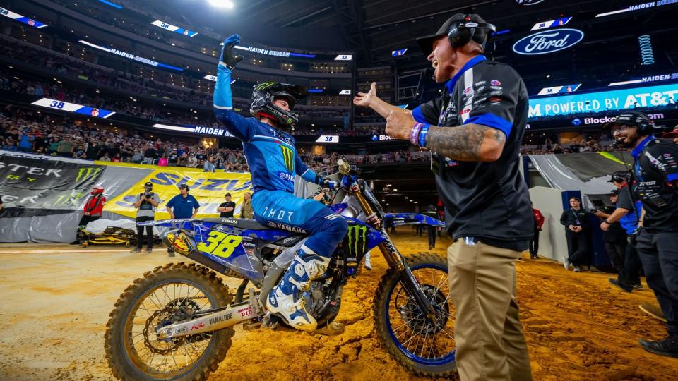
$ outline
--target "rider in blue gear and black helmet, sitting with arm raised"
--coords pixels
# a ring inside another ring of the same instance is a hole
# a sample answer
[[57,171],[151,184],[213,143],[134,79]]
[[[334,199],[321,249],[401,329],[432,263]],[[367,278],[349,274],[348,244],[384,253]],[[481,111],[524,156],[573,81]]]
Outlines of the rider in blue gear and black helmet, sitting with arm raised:
[[343,217],[321,202],[293,194],[295,174],[311,183],[337,188],[334,181],[321,178],[302,162],[297,155],[295,138],[290,135],[297,123],[297,115],[290,109],[307,95],[307,90],[298,85],[261,83],[255,85],[252,92],[249,111],[254,118],[245,118],[233,111],[231,71],[242,61],[242,56],[234,56],[232,49],[239,42],[239,35],[224,41],[217,66],[214,113],[227,131],[242,140],[252,176],[254,218],[275,229],[309,235],[283,279],[268,294],[267,308],[287,325],[313,331],[317,323],[307,312],[302,293],[311,280],[326,271],[348,226]]

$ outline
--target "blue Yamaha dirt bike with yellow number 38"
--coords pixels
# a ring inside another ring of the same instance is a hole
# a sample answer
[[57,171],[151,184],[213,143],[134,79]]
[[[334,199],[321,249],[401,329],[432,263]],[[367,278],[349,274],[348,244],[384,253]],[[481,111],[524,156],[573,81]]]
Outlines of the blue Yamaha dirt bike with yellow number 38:
[[[334,319],[343,286],[355,278],[365,253],[379,248],[388,263],[374,297],[374,325],[383,348],[416,375],[452,375],[456,344],[446,258],[405,258],[381,224],[384,219],[395,226],[444,223],[422,214],[384,213],[367,183],[348,164],[339,164],[341,189],[354,202],[329,207],[349,228],[328,270],[304,291],[307,311],[316,318],[319,332],[342,333]],[[163,237],[168,250],[197,264],[156,267],[121,294],[105,334],[106,358],[115,377],[205,380],[227,355],[234,325],[289,328],[266,310],[266,302],[304,243],[303,229],[229,218],[139,223],[149,224],[170,228]],[[242,279],[234,295],[215,272]],[[248,288],[250,283],[254,287]]]

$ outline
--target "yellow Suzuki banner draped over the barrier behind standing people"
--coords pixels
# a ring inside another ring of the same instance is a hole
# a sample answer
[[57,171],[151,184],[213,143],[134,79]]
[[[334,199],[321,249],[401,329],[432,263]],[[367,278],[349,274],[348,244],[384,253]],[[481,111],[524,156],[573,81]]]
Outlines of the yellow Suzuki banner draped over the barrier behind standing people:
[[[148,168],[148,167],[145,167]],[[231,201],[236,203],[235,217],[239,217],[242,207],[243,194],[251,188],[250,174],[235,174],[228,172],[198,172],[174,170],[154,167],[144,179],[136,183],[126,192],[121,193],[112,200],[107,200],[105,210],[126,217],[135,218],[136,208],[134,203],[140,193],[143,193],[143,184],[146,181],[153,183],[153,192],[160,197],[160,205],[155,210],[155,219],[169,219],[166,205],[175,195],[180,194],[180,184],[189,186],[189,194],[193,195],[200,208],[198,218],[219,217],[217,208],[225,202],[226,193],[232,196]]]

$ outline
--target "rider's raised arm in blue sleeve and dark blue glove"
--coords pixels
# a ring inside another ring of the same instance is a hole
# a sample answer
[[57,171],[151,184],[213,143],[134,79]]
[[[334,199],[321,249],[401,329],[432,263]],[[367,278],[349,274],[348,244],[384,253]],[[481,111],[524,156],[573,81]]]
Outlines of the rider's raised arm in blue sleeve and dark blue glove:
[[224,40],[221,49],[221,59],[217,66],[217,84],[214,87],[214,116],[220,121],[226,130],[240,140],[249,140],[250,132],[254,127],[251,119],[233,111],[233,99],[231,95],[231,71],[235,65],[242,61],[242,56],[233,56],[234,45],[239,44],[240,36],[232,35]]

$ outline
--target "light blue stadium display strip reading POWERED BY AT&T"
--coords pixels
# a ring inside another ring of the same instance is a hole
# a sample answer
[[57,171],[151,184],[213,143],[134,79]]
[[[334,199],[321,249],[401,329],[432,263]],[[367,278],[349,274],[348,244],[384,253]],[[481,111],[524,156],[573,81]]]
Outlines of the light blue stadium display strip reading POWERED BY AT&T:
[[666,107],[678,103],[678,83],[530,99],[529,118]]

